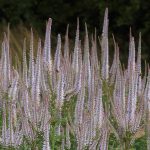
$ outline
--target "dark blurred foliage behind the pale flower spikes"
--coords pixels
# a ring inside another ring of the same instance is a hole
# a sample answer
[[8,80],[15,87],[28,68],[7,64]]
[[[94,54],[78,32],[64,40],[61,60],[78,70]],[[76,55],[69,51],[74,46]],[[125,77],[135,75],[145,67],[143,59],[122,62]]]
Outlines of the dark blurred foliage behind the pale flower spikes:
[[[112,33],[120,47],[124,63],[128,57],[129,28],[135,36],[136,48],[138,34],[142,33],[142,60],[150,60],[150,2],[143,0],[0,0],[0,31],[5,31],[10,23],[12,45],[18,51],[30,27],[44,38],[46,20],[53,19],[52,35],[65,34],[70,25],[69,37],[75,38],[76,20],[80,19],[81,39],[84,36],[84,23],[88,24],[90,35],[95,27],[101,35],[104,10],[109,8],[110,54],[113,52]],[[2,35],[2,34],[1,34]],[[2,36],[1,36],[2,37]],[[1,38],[2,39],[2,38]],[[55,39],[55,38],[54,38]],[[14,42],[15,41],[15,42]],[[55,40],[54,40],[55,41]],[[82,40],[83,41],[83,40]],[[17,43],[18,42],[18,43]],[[21,44],[20,44],[20,43]],[[54,44],[55,45],[55,44]],[[112,58],[112,57],[111,57]]]

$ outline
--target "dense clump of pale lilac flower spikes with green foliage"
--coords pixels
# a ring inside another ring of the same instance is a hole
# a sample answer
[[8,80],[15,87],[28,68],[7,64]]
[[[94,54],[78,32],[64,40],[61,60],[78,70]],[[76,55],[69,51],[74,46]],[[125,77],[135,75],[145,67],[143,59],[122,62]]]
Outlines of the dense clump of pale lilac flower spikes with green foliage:
[[49,19],[44,46],[39,39],[36,58],[31,30],[29,61],[25,39],[23,61],[17,67],[12,66],[9,56],[9,31],[4,34],[0,59],[1,149],[128,150],[137,148],[143,139],[150,149],[150,70],[146,65],[145,73],[141,72],[141,35],[136,56],[130,32],[125,68],[114,37],[114,59],[109,65],[107,8],[99,46],[96,32],[89,40],[86,24],[82,46],[78,20],[73,53],[67,28],[64,45],[58,34],[53,58],[51,25]]

